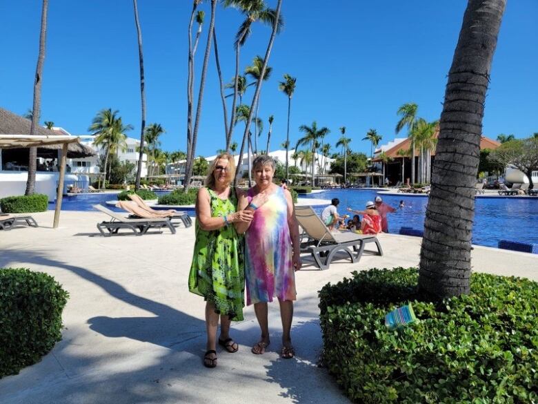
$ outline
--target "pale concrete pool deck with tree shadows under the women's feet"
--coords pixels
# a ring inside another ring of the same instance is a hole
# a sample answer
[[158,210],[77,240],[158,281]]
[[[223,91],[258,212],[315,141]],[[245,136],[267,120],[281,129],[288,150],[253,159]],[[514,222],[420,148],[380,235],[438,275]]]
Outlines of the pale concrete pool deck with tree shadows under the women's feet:
[[[232,324],[237,354],[217,349],[219,364],[201,364],[203,299],[188,292],[194,227],[103,238],[99,212],[34,213],[40,227],[0,231],[0,267],[28,267],[54,276],[70,293],[63,340],[41,362],[0,380],[2,404],[349,403],[324,368],[317,291],[350,271],[409,267],[419,262],[420,238],[381,234],[385,255],[333,262],[318,271],[305,257],[297,273],[292,326],[297,355],[279,358],[281,324],[270,305],[268,352],[250,353],[259,329],[252,307]],[[475,246],[475,271],[538,280],[538,256]]]

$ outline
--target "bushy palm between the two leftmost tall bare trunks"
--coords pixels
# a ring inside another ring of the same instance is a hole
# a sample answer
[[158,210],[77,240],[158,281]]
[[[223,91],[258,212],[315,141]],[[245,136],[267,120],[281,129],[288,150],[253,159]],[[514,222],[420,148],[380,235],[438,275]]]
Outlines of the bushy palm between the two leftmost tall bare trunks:
[[[105,165],[103,167],[105,184],[108,157],[110,153],[116,152],[118,148],[125,147],[125,132],[132,130],[132,125],[123,125],[123,122],[121,122],[121,117],[117,117],[118,113],[118,110],[112,111],[111,108],[103,109],[99,111],[97,115],[95,115],[90,128],[88,128],[88,131],[92,132],[92,134],[95,136],[95,146],[101,146],[106,153]],[[99,182],[100,180],[101,178],[99,178]],[[99,187],[101,187],[101,184],[99,184]]]

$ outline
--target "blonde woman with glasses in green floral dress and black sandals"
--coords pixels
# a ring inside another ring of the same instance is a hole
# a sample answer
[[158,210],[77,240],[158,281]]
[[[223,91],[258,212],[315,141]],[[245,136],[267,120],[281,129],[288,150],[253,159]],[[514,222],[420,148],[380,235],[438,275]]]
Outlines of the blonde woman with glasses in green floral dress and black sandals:
[[243,236],[232,223],[250,223],[251,211],[237,211],[233,157],[218,155],[212,162],[206,186],[196,201],[196,241],[189,273],[189,291],[206,300],[206,367],[217,366],[217,327],[221,320],[219,345],[233,353],[239,348],[230,338],[230,321],[243,320],[245,270]]

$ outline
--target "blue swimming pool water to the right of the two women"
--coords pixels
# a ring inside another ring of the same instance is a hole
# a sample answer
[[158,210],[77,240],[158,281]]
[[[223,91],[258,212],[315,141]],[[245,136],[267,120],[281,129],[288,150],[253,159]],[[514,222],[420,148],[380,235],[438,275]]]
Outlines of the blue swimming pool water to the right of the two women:
[[[305,198],[340,200],[339,213],[346,207],[363,209],[369,200],[377,196],[371,189],[338,189],[321,193],[301,195]],[[403,200],[406,207],[388,214],[388,230],[397,233],[401,227],[424,229],[428,198],[418,196],[382,195],[383,201],[398,207]],[[321,212],[323,206],[316,207]],[[538,243],[538,198],[477,198],[475,202],[475,224],[472,227],[472,242],[488,247],[497,247],[499,240]]]

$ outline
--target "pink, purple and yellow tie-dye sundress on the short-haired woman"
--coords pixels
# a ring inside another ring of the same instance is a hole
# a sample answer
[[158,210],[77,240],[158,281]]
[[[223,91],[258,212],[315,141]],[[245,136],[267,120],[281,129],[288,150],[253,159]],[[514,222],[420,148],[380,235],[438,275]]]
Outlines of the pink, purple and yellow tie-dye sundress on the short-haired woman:
[[[255,195],[248,190],[248,202]],[[288,227],[288,203],[283,189],[259,206],[245,233],[245,276],[247,305],[259,302],[295,300],[295,271]]]

